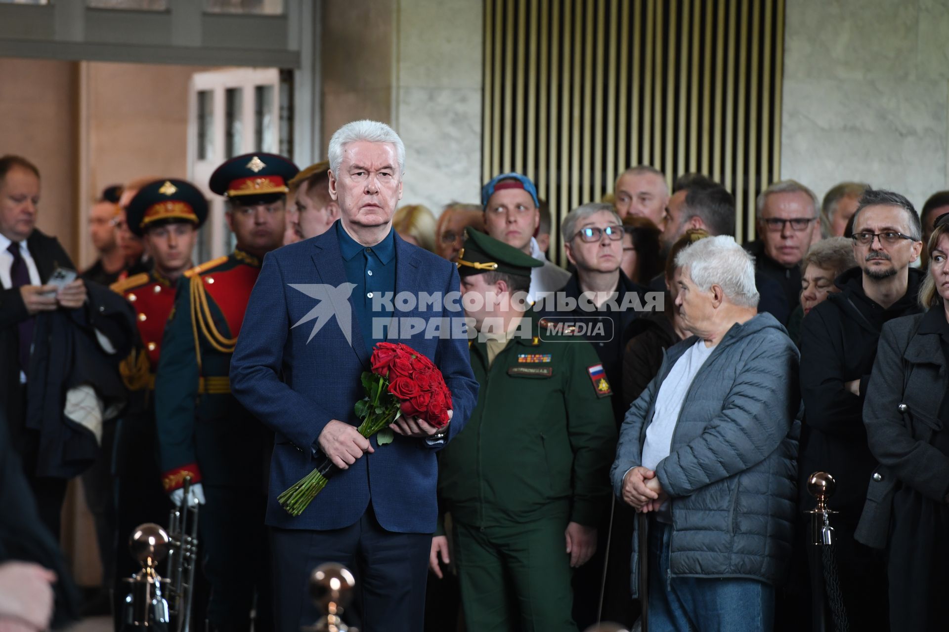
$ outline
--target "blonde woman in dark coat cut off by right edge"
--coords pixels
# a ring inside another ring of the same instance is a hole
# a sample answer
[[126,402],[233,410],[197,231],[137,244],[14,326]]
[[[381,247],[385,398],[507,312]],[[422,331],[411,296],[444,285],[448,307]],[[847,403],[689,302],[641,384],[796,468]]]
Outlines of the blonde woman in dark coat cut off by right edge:
[[855,534],[886,548],[890,626],[908,632],[949,621],[949,213],[927,252],[926,312],[884,325],[866,389],[866,437],[880,467]]

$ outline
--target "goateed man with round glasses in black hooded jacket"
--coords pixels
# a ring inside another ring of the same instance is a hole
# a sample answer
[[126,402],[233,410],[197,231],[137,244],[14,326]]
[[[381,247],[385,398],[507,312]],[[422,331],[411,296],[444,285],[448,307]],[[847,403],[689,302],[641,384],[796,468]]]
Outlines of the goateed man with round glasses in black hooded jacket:
[[[910,267],[922,248],[920,217],[910,202],[887,190],[866,190],[853,216],[853,254],[859,267],[837,277],[840,292],[805,316],[801,332],[799,502],[814,501],[803,483],[812,472],[837,480],[834,544],[844,605],[852,629],[886,621],[886,568],[878,551],[853,539],[876,460],[866,441],[866,384],[885,322],[920,312],[924,276]],[[809,548],[813,550],[813,547]]]

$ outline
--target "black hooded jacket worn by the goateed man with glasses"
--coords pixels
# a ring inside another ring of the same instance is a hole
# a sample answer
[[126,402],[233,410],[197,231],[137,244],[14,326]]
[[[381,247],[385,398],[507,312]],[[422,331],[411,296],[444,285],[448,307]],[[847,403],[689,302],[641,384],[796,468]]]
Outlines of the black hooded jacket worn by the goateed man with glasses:
[[[805,423],[799,456],[801,502],[813,507],[803,481],[825,471],[837,481],[830,505],[847,533],[856,528],[866,486],[877,461],[866,443],[864,399],[877,341],[885,322],[920,312],[916,303],[922,273],[909,270],[905,296],[888,309],[866,297],[863,271],[848,270],[835,281],[841,288],[804,318],[801,328],[801,396]],[[860,380],[860,395],[845,382]]]

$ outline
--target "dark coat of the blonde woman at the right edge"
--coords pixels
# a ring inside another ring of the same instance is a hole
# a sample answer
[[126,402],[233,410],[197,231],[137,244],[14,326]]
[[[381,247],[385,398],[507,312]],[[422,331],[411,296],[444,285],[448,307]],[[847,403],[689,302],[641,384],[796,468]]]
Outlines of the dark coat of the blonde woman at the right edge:
[[940,343],[944,320],[943,310],[934,308],[887,323],[880,337],[864,403],[869,448],[881,465],[879,480],[867,480],[857,531],[867,546],[886,543],[898,481],[940,504],[949,495],[949,456],[931,444],[933,434],[949,424],[944,414],[949,376]]

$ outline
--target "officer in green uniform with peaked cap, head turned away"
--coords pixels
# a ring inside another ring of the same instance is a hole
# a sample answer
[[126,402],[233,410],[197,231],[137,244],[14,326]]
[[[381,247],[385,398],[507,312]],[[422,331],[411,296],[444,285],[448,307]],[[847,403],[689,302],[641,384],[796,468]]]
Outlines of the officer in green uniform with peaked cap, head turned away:
[[[439,505],[452,516],[470,630],[576,632],[572,569],[597,547],[616,424],[603,365],[579,336],[542,329],[521,250],[473,228],[458,254],[481,388],[441,452]],[[474,300],[473,300],[474,298]],[[432,541],[433,564],[447,539]]]

